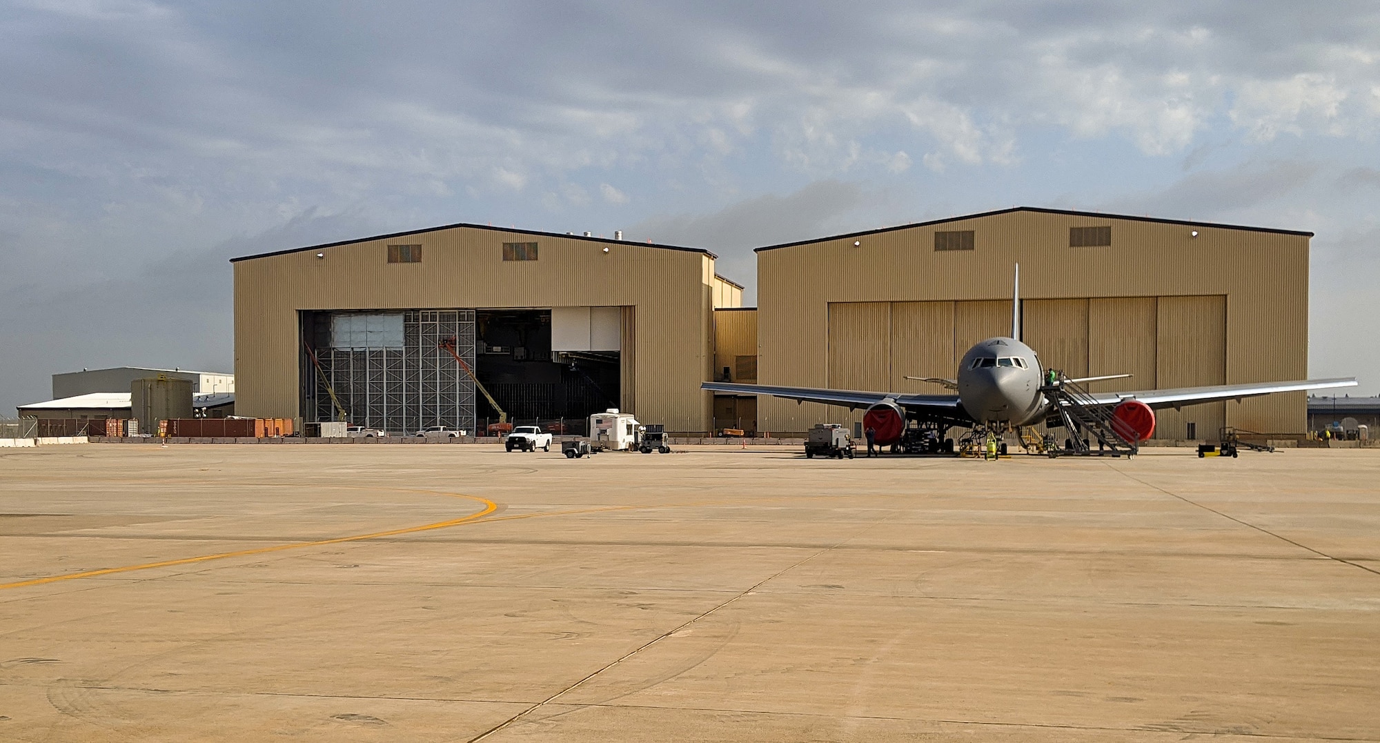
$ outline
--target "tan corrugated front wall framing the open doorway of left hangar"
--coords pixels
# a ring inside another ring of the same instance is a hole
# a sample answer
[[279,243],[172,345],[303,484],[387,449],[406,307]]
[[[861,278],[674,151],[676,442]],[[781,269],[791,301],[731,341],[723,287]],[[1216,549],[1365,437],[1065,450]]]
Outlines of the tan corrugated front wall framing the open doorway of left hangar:
[[[537,242],[535,261],[504,261],[502,243]],[[422,262],[389,264],[389,244],[421,244]],[[607,247],[609,253],[603,253]],[[235,262],[236,407],[298,414],[298,309],[631,307],[639,418],[705,431],[700,392],[712,362],[713,258],[686,250],[448,228]]]

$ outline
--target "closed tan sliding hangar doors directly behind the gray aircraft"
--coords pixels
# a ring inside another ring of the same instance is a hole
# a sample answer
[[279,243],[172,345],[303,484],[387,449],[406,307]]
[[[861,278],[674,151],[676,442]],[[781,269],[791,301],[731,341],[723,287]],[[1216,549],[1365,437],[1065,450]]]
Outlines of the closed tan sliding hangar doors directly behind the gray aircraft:
[[[1133,374],[1096,383],[1096,391],[1225,384],[1225,300],[1025,300],[1021,337],[1042,367],[1070,377]],[[829,302],[828,311],[829,387],[843,389],[943,394],[905,377],[954,378],[973,344],[1012,333],[1010,300]],[[1156,438],[1212,438],[1223,425],[1225,403],[1163,410]]]

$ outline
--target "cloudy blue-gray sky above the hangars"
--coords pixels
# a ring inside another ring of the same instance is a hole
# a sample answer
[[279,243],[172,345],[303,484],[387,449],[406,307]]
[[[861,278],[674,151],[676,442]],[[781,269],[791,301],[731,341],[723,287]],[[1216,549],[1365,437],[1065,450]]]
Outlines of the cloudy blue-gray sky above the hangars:
[[756,246],[1013,204],[1317,232],[1310,372],[1380,392],[1373,1],[0,7],[0,416],[229,370],[232,255],[622,229],[751,286]]

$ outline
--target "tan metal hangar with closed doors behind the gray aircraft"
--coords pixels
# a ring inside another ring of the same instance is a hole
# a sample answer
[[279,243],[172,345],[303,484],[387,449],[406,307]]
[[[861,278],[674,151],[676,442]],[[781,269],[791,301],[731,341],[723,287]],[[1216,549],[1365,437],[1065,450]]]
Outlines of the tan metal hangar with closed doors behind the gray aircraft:
[[[973,342],[1012,327],[1094,391],[1300,380],[1311,232],[1017,207],[758,249],[760,384],[931,392]],[[716,402],[716,410],[720,405]],[[805,431],[861,413],[762,396],[756,427]],[[1165,410],[1156,438],[1221,425],[1305,431],[1289,392]]]

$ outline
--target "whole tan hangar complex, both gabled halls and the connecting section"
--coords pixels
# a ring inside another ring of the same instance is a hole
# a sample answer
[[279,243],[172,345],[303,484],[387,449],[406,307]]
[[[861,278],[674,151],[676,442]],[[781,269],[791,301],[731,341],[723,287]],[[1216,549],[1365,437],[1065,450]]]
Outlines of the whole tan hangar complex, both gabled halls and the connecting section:
[[[411,432],[493,410],[620,407],[668,431],[806,431],[860,412],[707,380],[945,392],[976,341],[1023,336],[1094,389],[1301,380],[1308,232],[1010,209],[758,249],[759,307],[707,250],[451,225],[235,260],[243,416]],[[334,398],[333,398],[334,395]],[[1156,436],[1307,427],[1304,394],[1165,410]]]

